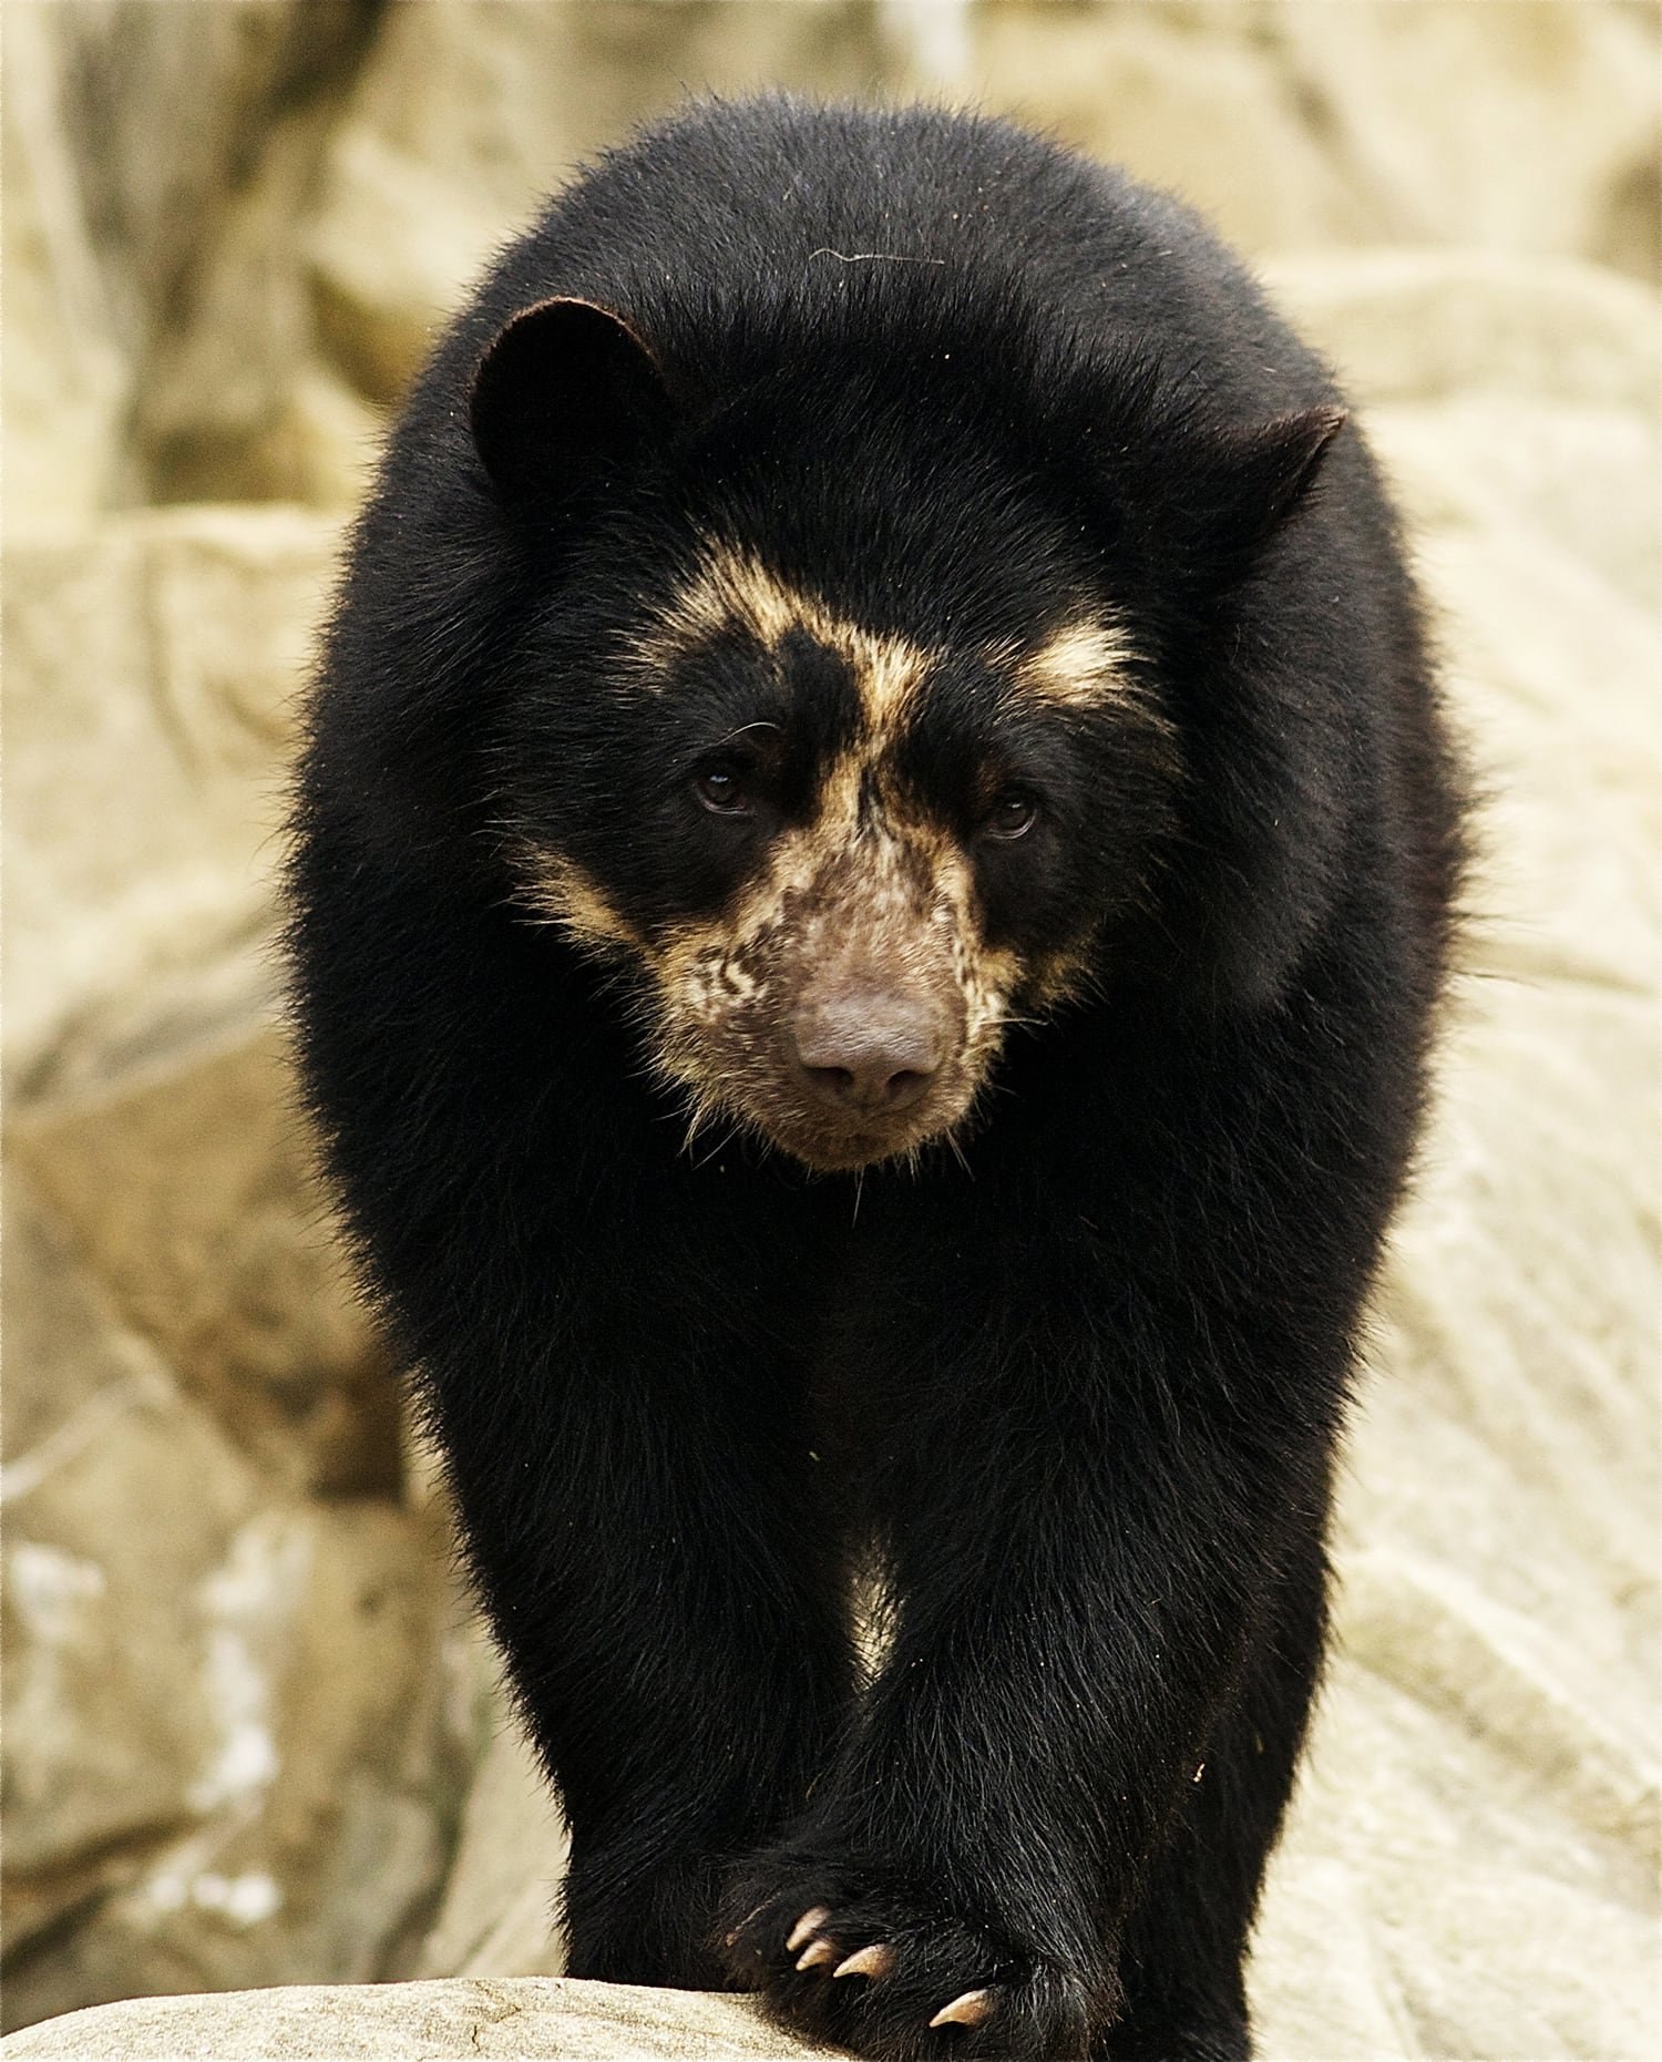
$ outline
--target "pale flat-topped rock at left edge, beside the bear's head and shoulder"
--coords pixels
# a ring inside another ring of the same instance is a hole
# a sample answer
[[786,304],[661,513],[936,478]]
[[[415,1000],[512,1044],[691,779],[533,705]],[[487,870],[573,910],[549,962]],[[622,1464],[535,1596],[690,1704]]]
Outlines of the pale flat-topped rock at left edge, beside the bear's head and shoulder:
[[[280,761],[338,526],[107,518],[6,561],[6,1064],[64,1091],[270,986]],[[169,1029],[173,1027],[173,1029]]]

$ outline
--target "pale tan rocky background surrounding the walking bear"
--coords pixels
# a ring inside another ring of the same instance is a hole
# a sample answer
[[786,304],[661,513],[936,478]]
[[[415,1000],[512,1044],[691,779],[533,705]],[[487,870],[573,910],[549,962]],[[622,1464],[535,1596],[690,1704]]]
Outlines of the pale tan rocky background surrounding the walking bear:
[[629,124],[777,82],[1182,190],[1402,483],[1491,920],[1260,1992],[1270,2052],[1652,2052],[1660,64],[1623,0],[6,0],[8,2027],[559,1967],[289,1103],[282,769],[435,322]]

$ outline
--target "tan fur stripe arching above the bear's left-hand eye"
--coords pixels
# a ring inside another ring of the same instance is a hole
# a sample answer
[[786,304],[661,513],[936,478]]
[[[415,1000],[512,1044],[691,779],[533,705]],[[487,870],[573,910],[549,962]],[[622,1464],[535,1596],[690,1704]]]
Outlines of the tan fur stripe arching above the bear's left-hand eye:
[[788,586],[757,557],[730,544],[707,546],[697,575],[662,612],[639,656],[662,680],[676,652],[730,629],[751,631],[769,652],[792,631],[835,652],[854,674],[872,738],[895,734],[930,666],[930,654],[920,645],[850,623],[817,594]]

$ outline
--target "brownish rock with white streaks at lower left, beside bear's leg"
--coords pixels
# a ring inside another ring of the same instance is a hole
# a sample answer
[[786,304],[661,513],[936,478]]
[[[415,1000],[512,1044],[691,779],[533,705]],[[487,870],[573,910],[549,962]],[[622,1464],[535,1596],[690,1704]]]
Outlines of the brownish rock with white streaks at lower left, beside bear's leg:
[[433,1524],[274,1493],[16,1167],[6,1202],[6,2021],[379,1975],[468,1771]]

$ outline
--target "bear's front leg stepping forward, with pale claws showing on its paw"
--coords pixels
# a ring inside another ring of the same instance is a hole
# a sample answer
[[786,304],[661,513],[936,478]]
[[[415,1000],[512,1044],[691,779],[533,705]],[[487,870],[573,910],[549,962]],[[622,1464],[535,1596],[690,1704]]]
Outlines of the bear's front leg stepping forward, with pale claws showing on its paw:
[[[895,1637],[864,1726],[730,1885],[734,1975],[883,2062],[1248,2052],[1245,1930],[1309,1699],[1309,1672],[1256,1687],[1260,1645],[1289,1540],[1311,1514],[1320,1534],[1322,1439],[1239,1421],[1252,1369],[1219,1365],[1217,1326],[1142,1311],[1120,1336],[1161,1363],[1136,1365],[1107,1322],[1025,1365],[1006,1340],[1002,1367],[984,1326],[979,1365],[924,1386],[885,1483]],[[1243,1699],[1276,1734],[1264,1777],[1223,1751]],[[1196,1819],[1196,1773],[1208,1804],[1239,1794]]]

